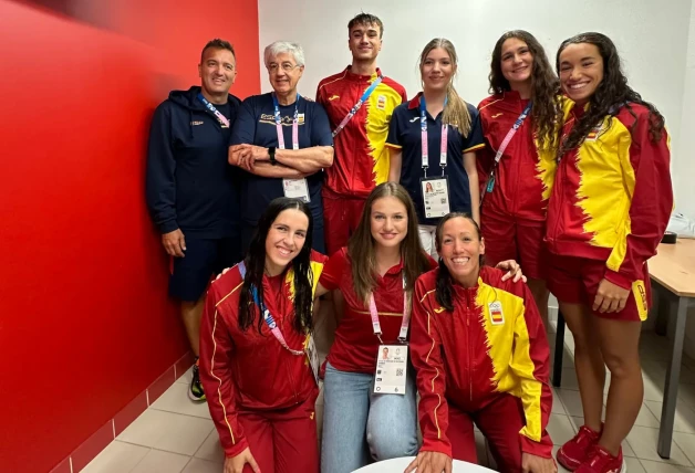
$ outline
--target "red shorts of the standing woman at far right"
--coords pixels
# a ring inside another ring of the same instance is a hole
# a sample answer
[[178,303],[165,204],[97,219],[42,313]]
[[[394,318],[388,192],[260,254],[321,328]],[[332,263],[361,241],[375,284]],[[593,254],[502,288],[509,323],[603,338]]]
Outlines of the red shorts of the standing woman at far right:
[[[551,254],[548,288],[560,302],[591,307],[605,271],[604,261]],[[652,286],[646,263],[642,271],[642,278],[632,283],[625,308],[611,313],[593,312],[594,315],[615,320],[646,320],[652,305]]]

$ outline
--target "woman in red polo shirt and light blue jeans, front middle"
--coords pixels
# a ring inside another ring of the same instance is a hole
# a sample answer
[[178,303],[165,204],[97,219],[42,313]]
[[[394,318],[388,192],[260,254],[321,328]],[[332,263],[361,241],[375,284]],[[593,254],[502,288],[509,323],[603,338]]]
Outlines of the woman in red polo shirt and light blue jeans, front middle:
[[[518,269],[515,262],[500,264]],[[325,365],[322,472],[348,473],[372,460],[417,452],[414,374],[406,374],[404,395],[374,393],[374,375],[380,346],[400,344],[415,280],[433,267],[436,262],[421,245],[407,191],[395,182],[377,186],[349,246],[325,264],[317,291],[339,290],[345,299]],[[372,324],[372,297],[381,335]]]

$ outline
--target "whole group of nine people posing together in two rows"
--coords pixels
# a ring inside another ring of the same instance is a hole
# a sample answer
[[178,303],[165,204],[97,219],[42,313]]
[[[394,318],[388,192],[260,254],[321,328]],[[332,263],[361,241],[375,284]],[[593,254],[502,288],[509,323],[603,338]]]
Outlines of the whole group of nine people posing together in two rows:
[[[454,87],[449,41],[425,46],[407,101],[376,66],[382,21],[362,13],[348,30],[353,62],[315,102],[297,92],[298,44],[266,48],[273,92],[240,102],[234,49],[214,40],[201,85],[172,92],[153,119],[147,201],[199,356],[190,397],[207,399],[225,473],[408,455],[406,472],[450,472],[477,461],[474,424],[500,471],[557,471],[549,292],[574,336],[584,411],[557,460],[624,470],[646,260],[673,206],[663,116],[600,33],[566,40],[557,74],[530,33],[505,33],[492,95],[475,107]],[[324,303],[338,327],[320,366]]]

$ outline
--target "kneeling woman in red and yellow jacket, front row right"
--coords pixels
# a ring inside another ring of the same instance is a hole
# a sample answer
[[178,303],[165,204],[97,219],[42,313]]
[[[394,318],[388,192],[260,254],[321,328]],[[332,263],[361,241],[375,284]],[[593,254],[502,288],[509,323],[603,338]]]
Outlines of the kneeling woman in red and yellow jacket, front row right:
[[436,230],[439,267],[415,283],[411,349],[423,446],[406,472],[476,462],[474,423],[501,472],[556,472],[546,427],[549,349],[531,292],[483,266],[485,244],[464,213]]

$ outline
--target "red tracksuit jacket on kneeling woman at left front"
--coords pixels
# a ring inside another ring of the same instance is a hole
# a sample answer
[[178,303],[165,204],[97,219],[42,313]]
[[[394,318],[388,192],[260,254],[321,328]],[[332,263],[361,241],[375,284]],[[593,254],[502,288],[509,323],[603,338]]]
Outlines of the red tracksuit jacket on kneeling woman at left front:
[[[312,252],[313,287],[325,256]],[[263,276],[263,302],[282,330],[288,346],[301,350],[307,335],[294,328],[293,270],[280,276],[280,286]],[[239,329],[239,293],[243,280],[238,265],[208,290],[200,326],[200,381],[227,456],[248,446],[237,421],[239,410],[264,411],[292,407],[318,397],[319,390],[305,356],[292,355],[266,324]],[[260,317],[253,304],[256,320]]]

